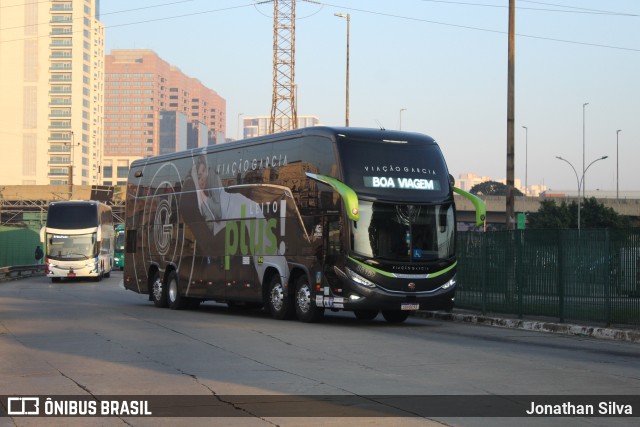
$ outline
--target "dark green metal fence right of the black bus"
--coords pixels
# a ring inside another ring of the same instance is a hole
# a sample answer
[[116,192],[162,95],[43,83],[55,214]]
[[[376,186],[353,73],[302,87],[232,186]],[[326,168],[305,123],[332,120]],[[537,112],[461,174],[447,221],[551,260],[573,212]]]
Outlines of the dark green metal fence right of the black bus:
[[640,325],[640,229],[458,234],[456,306]]

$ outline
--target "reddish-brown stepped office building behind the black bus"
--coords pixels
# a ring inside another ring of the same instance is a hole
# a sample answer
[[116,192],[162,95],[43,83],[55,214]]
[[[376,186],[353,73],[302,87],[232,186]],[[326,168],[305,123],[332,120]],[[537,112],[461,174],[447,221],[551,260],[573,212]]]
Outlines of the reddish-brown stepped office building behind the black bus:
[[135,159],[224,142],[226,101],[149,49],[114,49],[105,65],[104,185]]

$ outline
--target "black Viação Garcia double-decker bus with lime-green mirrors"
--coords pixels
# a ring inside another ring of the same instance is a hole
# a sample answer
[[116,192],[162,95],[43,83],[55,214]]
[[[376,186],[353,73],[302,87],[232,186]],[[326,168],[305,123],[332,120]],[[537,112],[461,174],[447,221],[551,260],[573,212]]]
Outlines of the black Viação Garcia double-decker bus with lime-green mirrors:
[[131,165],[124,285],[158,307],[402,322],[454,305],[454,189],[426,135],[313,127]]

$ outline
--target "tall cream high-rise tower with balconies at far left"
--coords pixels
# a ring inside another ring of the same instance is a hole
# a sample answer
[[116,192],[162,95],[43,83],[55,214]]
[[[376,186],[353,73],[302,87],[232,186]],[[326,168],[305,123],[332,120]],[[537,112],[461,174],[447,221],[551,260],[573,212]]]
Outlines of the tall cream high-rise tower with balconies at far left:
[[0,183],[99,184],[99,0],[0,0]]

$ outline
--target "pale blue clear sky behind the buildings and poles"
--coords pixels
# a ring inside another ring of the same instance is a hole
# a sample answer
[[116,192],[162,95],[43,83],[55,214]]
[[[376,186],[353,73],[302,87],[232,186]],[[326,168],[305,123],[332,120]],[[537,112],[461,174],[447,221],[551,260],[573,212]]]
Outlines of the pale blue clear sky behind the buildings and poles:
[[[428,134],[450,173],[506,177],[508,0],[296,2],[298,115]],[[102,0],[106,51],[152,49],[227,103],[269,115],[273,3]],[[516,0],[515,176],[640,191],[640,1]],[[588,105],[584,105],[588,104]],[[526,127],[526,129],[524,128]],[[620,130],[620,132],[617,132]],[[567,159],[571,165],[556,159]],[[618,178],[619,177],[619,178]]]

